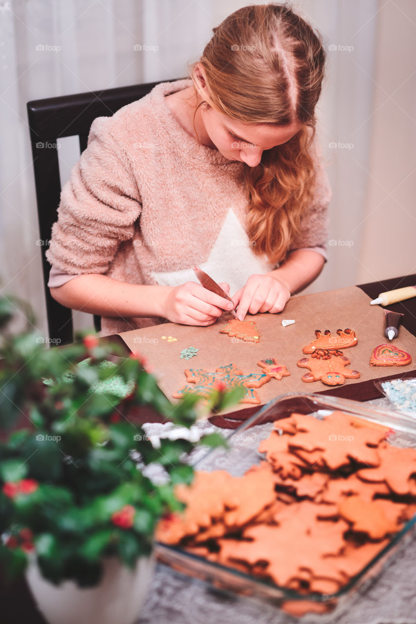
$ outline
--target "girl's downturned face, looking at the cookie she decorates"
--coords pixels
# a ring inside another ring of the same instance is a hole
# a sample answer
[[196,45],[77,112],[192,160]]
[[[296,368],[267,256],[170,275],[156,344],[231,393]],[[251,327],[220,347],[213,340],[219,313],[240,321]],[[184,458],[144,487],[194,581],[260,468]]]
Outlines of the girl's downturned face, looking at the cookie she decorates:
[[201,111],[198,135],[201,143],[216,147],[229,158],[245,162],[249,167],[259,165],[264,150],[272,149],[292,139],[302,127],[299,122],[292,125],[246,124],[231,119],[212,107]]

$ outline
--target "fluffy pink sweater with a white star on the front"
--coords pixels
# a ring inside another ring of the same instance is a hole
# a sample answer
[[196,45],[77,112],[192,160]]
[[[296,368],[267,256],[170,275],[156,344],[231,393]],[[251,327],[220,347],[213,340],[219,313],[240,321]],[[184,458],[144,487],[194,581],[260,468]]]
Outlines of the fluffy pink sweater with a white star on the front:
[[[200,265],[231,294],[253,273],[275,266],[255,256],[245,233],[248,200],[243,163],[227,160],[187,134],[164,96],[190,79],[151,93],[91,125],[88,147],[62,188],[58,220],[46,252],[49,286],[102,273],[132,284],[176,286],[197,281]],[[327,174],[317,158],[317,188],[291,249],[325,257]],[[102,317],[102,336],[162,323],[161,318]]]

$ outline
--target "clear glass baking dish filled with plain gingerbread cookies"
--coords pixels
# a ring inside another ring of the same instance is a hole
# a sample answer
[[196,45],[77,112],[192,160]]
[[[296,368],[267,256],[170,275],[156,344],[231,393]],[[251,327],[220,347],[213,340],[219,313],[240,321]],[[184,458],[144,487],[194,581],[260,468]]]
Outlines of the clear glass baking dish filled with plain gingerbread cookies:
[[180,572],[332,619],[414,538],[411,416],[290,393],[227,443],[195,464],[177,492],[186,510],[157,529],[157,557]]

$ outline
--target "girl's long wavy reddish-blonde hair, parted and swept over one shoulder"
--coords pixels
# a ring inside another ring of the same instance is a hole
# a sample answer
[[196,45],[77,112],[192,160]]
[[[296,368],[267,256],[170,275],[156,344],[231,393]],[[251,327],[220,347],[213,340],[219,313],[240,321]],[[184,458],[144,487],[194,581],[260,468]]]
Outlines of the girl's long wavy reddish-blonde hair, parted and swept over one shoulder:
[[[322,37],[289,4],[238,9],[214,29],[201,59],[188,66],[194,97],[205,109],[249,124],[290,125],[299,132],[243,164],[249,197],[247,234],[257,255],[284,260],[314,195],[315,105],[324,79]],[[204,69],[206,91],[196,76]],[[195,128],[195,125],[194,125]]]

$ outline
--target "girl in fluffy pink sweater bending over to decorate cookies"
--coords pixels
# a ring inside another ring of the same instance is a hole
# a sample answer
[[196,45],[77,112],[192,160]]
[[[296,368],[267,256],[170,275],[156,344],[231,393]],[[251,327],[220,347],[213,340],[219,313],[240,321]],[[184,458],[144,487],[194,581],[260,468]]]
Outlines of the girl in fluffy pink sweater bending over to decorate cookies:
[[[315,145],[319,34],[287,4],[213,29],[189,78],[94,120],[64,185],[47,259],[64,306],[101,335],[277,313],[322,270],[330,188]],[[238,307],[237,307],[238,306]]]

